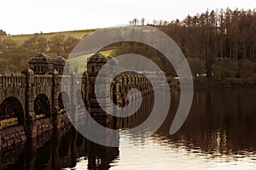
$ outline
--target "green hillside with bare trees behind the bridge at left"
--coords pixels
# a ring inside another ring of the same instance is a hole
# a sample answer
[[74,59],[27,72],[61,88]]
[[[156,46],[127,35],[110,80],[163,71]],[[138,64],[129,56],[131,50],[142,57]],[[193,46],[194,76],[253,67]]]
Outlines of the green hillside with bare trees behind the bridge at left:
[[[26,35],[0,36],[0,71],[20,72],[26,68],[28,59],[35,54],[44,53],[49,57],[61,55],[65,58],[71,53],[77,43],[97,29],[79,31],[60,31]],[[103,54],[112,54],[112,48],[102,50]],[[90,54],[78,56],[76,60],[84,62]],[[73,61],[75,61],[73,59]],[[82,64],[82,63],[81,63]],[[79,68],[83,71],[86,68]]]

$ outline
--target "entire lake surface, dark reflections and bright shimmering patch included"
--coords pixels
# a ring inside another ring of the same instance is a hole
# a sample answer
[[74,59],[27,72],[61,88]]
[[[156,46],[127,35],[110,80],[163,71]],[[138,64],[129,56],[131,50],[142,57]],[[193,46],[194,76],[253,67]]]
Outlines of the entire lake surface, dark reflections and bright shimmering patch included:
[[166,121],[158,132],[130,133],[145,120],[153,100],[139,116],[121,121],[119,147],[84,139],[74,128],[47,133],[17,149],[1,152],[2,169],[256,169],[256,88],[196,89],[183,127],[169,134],[179,93],[172,92]]

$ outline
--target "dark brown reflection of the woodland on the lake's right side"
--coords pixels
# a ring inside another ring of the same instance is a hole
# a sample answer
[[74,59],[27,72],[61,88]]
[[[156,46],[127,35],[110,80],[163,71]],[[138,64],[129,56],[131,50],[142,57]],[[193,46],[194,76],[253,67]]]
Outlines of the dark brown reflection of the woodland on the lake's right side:
[[[220,154],[255,150],[255,88],[198,90],[187,121],[170,139]],[[162,132],[165,132],[166,123]],[[192,144],[192,145],[191,145]]]

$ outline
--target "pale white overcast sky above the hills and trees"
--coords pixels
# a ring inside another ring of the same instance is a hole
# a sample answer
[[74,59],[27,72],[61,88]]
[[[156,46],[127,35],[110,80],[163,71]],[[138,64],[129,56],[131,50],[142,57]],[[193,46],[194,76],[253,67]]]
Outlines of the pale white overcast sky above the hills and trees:
[[256,0],[1,0],[0,29],[10,34],[129,24],[134,18],[182,20],[216,8],[256,8]]

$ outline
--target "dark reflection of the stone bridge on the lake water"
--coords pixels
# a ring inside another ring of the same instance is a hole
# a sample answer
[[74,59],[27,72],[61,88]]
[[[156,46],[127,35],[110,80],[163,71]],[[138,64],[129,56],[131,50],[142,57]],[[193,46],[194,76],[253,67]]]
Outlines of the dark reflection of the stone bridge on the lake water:
[[[152,109],[153,99],[152,95],[148,95],[135,114],[129,117],[119,117],[116,128],[130,128],[143,122],[149,115],[148,109]],[[138,104],[133,102],[131,105]],[[108,131],[106,133],[106,140],[114,140],[119,143],[119,133],[117,135],[108,133]],[[43,133],[26,145],[15,145],[13,150],[2,150],[0,152],[0,168],[24,170],[43,168],[59,170],[65,167],[109,169],[113,161],[117,161],[118,156],[119,147],[93,143],[72,127],[60,132]]]

